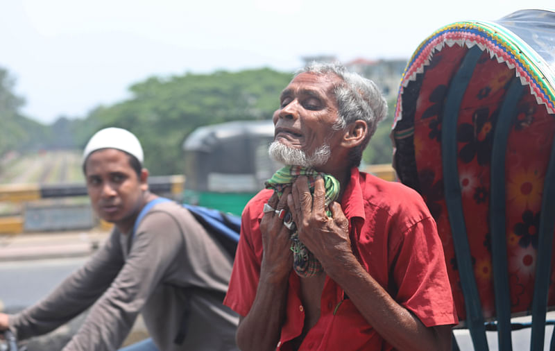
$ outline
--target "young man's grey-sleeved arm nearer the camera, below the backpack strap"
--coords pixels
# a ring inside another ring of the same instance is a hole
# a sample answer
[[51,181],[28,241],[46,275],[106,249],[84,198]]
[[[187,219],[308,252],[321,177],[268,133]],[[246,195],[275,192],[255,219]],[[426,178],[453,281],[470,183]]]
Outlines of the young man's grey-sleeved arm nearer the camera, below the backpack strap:
[[170,264],[182,254],[180,228],[169,214],[151,211],[138,229],[121,271],[64,350],[117,349]]

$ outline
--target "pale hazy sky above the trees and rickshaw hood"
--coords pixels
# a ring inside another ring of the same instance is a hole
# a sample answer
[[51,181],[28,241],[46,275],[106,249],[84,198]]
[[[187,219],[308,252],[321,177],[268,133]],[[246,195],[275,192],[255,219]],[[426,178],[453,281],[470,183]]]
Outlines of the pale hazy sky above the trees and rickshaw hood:
[[452,22],[495,20],[555,0],[0,0],[0,67],[50,123],[126,99],[148,76],[272,67],[306,55],[409,58]]

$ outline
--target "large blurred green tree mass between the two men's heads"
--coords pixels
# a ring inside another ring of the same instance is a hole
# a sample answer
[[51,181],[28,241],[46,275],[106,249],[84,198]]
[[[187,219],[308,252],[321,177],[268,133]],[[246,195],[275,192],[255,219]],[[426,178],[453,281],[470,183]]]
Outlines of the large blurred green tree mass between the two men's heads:
[[291,74],[271,69],[217,71],[132,85],[132,97],[99,107],[74,123],[74,139],[83,147],[100,128],[126,128],[141,140],[145,166],[153,175],[180,174],[182,142],[199,126],[236,120],[269,119]]

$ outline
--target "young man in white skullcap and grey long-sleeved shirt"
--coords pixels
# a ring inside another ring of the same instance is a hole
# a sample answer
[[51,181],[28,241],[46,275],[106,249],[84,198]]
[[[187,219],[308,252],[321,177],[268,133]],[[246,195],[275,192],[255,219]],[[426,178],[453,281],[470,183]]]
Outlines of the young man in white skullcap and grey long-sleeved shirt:
[[182,205],[148,191],[142,162],[141,144],[127,130],[105,128],[89,140],[87,191],[114,230],[50,296],[15,316],[0,314],[0,329],[25,339],[91,307],[63,350],[115,350],[139,313],[152,339],[126,350],[237,350],[239,318],[221,303],[232,257]]

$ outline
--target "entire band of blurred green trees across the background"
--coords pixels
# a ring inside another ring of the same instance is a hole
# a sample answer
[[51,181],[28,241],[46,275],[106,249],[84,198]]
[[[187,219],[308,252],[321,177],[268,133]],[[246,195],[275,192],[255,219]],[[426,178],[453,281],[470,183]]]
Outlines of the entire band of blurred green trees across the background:
[[[116,126],[139,137],[151,174],[181,174],[182,142],[191,131],[226,121],[271,118],[291,78],[291,73],[268,68],[151,77],[131,85],[126,101],[98,106],[82,119],[60,117],[51,126],[43,126],[19,113],[24,100],[14,94],[14,80],[0,67],[0,158],[10,150],[82,150],[94,132]],[[365,164],[391,162],[394,102],[388,102],[388,118],[364,151]]]

